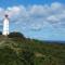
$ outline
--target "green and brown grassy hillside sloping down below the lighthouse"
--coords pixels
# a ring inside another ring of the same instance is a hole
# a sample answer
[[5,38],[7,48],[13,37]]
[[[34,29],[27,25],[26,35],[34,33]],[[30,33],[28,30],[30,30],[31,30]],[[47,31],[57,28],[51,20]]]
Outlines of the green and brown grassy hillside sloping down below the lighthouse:
[[25,38],[18,32],[1,35],[0,65],[65,65],[65,44]]

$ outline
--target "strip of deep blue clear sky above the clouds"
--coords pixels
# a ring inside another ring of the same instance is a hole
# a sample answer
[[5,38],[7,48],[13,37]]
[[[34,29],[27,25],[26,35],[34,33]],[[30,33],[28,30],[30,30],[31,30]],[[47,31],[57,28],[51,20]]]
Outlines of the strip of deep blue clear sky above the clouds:
[[0,0],[0,6],[31,5],[31,4],[51,4],[52,2],[65,3],[65,0]]

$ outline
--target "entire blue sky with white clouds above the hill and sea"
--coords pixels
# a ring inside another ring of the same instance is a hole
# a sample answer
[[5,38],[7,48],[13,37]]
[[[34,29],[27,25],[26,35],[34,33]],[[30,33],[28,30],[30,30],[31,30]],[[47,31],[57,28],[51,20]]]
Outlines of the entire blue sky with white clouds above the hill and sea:
[[10,31],[27,38],[65,41],[65,0],[0,0],[0,30],[4,14]]

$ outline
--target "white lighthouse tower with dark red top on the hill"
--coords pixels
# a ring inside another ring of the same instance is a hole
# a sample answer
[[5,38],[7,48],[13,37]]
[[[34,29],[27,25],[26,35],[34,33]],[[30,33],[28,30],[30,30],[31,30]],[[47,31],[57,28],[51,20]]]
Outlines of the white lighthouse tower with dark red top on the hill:
[[9,35],[9,15],[5,14],[3,20],[3,32],[2,35],[8,36]]

